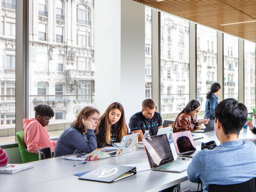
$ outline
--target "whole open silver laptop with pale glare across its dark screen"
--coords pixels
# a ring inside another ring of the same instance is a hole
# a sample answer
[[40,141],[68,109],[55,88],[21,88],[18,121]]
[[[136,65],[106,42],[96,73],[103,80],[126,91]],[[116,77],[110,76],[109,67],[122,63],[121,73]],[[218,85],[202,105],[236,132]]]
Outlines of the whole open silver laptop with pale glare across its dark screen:
[[182,172],[190,162],[174,161],[166,134],[143,138],[150,167],[154,171]]

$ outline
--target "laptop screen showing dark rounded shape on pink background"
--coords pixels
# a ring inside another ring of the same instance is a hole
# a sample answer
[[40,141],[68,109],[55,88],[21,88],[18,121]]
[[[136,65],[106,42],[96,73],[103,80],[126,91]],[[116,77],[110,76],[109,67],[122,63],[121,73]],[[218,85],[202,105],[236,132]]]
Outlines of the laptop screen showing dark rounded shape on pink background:
[[196,146],[190,131],[172,133],[172,139],[177,155],[196,150]]

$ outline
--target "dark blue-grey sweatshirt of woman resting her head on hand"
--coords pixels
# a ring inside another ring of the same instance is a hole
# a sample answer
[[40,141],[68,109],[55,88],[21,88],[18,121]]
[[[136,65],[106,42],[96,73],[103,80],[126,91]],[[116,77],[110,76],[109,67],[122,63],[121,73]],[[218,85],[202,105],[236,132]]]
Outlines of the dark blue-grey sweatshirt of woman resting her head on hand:
[[88,129],[84,135],[73,127],[69,127],[60,135],[54,149],[54,157],[81,152],[91,153],[96,148],[96,136],[92,129]]

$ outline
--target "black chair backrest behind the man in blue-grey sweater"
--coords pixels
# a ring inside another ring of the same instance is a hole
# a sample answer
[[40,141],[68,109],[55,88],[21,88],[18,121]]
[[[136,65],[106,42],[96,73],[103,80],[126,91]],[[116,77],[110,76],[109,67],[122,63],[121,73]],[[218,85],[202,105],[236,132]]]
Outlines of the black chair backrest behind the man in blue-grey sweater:
[[248,181],[245,181],[243,183],[233,184],[233,185],[215,185],[211,184],[209,185],[208,192],[240,192],[240,191],[246,191],[246,192],[255,192],[255,178],[252,178]]

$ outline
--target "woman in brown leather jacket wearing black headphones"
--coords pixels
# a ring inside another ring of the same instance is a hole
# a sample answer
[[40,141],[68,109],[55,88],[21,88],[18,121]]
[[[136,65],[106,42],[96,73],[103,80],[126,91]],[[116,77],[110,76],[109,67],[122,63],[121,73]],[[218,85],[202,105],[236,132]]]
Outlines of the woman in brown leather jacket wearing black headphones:
[[195,116],[199,110],[200,110],[200,103],[198,100],[193,99],[189,101],[189,103],[179,113],[174,123],[172,124],[174,132],[200,130],[202,129],[200,125],[202,125],[203,123],[208,124],[210,119],[196,121]]

